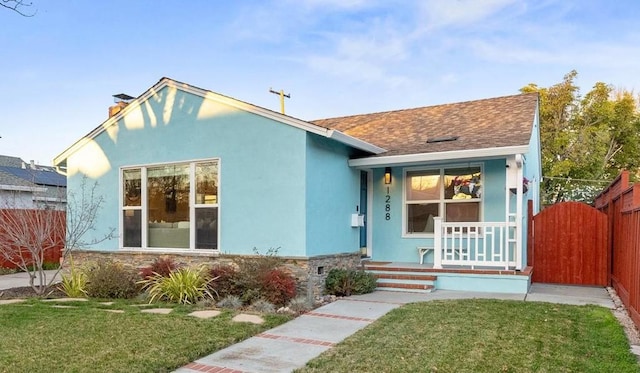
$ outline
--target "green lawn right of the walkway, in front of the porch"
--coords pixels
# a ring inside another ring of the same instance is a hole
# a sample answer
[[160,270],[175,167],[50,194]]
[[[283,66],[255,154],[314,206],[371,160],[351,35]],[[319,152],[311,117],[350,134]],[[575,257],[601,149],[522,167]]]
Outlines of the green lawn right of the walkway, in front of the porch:
[[403,306],[297,372],[640,372],[597,306],[455,300]]

